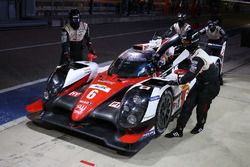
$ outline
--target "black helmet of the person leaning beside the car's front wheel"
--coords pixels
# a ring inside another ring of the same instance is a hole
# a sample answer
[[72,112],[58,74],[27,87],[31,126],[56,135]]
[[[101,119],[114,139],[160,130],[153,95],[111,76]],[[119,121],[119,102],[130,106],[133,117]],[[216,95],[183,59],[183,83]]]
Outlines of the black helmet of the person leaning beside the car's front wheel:
[[188,30],[185,35],[181,37],[181,43],[189,52],[194,52],[199,46],[199,33],[194,30]]

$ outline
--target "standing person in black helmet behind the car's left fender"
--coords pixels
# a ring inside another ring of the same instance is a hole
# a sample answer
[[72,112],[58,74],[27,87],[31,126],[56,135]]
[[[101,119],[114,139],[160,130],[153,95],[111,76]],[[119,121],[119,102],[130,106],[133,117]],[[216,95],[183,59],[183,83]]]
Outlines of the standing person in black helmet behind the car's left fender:
[[62,28],[60,64],[69,63],[70,61],[82,61],[84,40],[89,53],[95,54],[92,48],[88,24],[80,19],[80,11],[78,9],[70,10],[69,23]]

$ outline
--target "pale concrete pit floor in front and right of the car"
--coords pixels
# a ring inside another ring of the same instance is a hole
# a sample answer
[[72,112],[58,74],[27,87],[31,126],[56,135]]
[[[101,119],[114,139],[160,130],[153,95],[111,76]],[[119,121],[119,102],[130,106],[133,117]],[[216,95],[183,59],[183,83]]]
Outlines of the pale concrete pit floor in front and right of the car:
[[[225,63],[225,84],[209,110],[205,130],[198,135],[189,133],[196,123],[193,114],[183,138],[162,135],[126,157],[91,141],[40,128],[24,118],[18,125],[1,130],[0,166],[249,167],[250,52],[232,45],[233,54]],[[168,131],[175,124],[172,122]]]

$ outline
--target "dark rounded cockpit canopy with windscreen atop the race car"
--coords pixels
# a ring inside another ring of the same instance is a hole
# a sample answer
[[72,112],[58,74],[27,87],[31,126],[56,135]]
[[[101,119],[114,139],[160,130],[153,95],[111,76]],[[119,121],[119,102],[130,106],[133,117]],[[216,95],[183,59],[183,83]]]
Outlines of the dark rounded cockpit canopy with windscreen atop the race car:
[[154,50],[135,50],[133,48],[123,52],[108,69],[108,75],[116,74],[121,78],[145,77],[154,73],[149,61]]

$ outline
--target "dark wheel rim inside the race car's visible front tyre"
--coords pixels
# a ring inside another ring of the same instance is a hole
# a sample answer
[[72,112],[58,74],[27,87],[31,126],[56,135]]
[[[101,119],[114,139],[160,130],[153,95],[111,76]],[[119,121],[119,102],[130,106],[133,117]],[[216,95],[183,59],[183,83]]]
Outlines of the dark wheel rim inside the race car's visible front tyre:
[[165,95],[162,97],[158,115],[157,115],[157,129],[160,133],[163,133],[168,125],[169,118],[172,111],[172,98],[170,95]]

